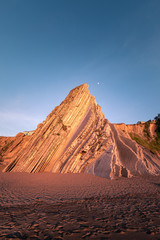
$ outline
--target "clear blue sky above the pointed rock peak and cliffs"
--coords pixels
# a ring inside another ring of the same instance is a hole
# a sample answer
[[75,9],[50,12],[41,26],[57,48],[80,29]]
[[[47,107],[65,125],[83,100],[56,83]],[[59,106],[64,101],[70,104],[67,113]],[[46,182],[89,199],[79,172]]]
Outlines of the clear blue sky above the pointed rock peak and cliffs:
[[160,112],[159,0],[0,0],[0,135],[85,82],[111,122]]

